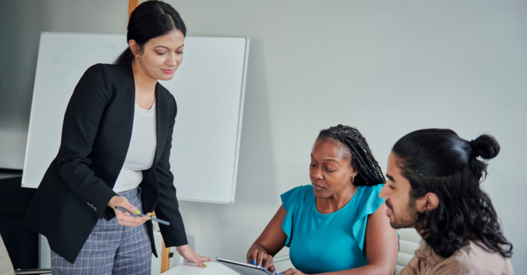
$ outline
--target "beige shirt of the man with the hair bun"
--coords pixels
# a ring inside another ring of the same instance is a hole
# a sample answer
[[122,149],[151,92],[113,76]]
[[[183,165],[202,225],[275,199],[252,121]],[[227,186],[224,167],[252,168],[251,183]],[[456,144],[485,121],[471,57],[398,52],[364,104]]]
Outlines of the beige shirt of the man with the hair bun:
[[514,275],[511,260],[500,253],[489,252],[478,246],[480,241],[469,241],[452,256],[441,258],[428,245],[415,250],[415,256],[397,275]]

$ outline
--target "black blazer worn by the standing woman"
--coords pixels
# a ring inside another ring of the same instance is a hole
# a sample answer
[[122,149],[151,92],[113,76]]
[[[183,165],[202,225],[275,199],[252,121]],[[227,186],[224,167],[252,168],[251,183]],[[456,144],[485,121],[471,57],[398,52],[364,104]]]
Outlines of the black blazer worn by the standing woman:
[[[75,86],[64,116],[62,140],[36,190],[25,225],[47,237],[51,250],[73,263],[98,219],[115,217],[108,207],[123,167],[134,120],[132,68],[96,64]],[[53,106],[50,106],[53,108]],[[143,171],[143,212],[170,222],[159,225],[167,247],[187,244],[178,210],[170,148],[176,100],[156,84],[157,150],[152,167]],[[152,221],[146,222],[152,252],[157,256]]]

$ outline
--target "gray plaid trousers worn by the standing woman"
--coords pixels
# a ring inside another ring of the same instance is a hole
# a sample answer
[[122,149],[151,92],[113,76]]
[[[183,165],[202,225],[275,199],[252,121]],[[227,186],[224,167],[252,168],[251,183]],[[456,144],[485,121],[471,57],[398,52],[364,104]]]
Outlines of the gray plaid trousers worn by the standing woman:
[[[137,187],[118,195],[128,199],[143,213]],[[51,274],[53,275],[150,275],[152,247],[145,224],[121,226],[117,219],[99,219],[80,250],[75,263],[69,263],[51,250]]]

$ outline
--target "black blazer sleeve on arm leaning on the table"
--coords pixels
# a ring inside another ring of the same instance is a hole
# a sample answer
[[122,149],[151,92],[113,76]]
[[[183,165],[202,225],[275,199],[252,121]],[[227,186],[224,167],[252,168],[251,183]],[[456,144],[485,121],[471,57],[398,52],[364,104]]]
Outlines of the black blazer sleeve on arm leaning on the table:
[[159,224],[159,229],[161,230],[161,235],[167,248],[188,244],[183,217],[181,217],[181,213],[179,212],[178,199],[176,198],[174,175],[170,171],[169,163],[170,150],[172,149],[172,133],[174,132],[174,123],[176,122],[176,114],[178,112],[176,99],[172,95],[170,95],[170,98],[174,102],[174,117],[170,120],[165,148],[156,165],[159,182],[159,202],[156,206],[156,217],[170,222],[169,226]]

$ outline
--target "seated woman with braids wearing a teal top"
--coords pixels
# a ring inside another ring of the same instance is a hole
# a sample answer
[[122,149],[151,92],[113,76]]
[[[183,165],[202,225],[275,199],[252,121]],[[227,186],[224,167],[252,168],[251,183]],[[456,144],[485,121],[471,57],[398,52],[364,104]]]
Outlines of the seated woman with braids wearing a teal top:
[[311,153],[312,185],[281,195],[282,206],[250,247],[248,263],[274,272],[272,256],[290,248],[290,274],[393,274],[397,232],[379,198],[384,176],[355,128],[322,130]]

